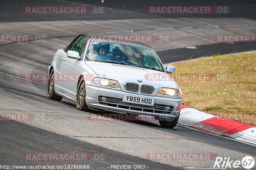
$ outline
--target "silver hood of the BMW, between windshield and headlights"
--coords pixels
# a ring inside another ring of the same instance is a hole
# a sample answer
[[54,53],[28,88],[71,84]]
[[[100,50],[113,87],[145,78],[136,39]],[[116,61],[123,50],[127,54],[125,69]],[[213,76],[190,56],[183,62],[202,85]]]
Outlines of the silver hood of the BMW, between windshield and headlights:
[[156,87],[157,91],[161,87],[178,88],[177,83],[168,74],[161,71],[96,61],[86,61],[86,64],[99,77],[118,81],[122,90],[124,82],[152,85]]

